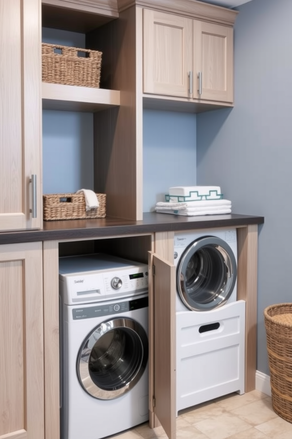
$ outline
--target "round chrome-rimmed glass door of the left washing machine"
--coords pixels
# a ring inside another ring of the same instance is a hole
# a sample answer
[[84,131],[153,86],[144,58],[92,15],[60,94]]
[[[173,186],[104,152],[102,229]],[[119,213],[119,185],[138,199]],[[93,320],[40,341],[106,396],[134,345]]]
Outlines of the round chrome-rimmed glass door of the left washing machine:
[[115,399],[141,378],[148,361],[148,338],[141,324],[113,318],[85,338],[77,358],[77,374],[86,392],[98,399]]

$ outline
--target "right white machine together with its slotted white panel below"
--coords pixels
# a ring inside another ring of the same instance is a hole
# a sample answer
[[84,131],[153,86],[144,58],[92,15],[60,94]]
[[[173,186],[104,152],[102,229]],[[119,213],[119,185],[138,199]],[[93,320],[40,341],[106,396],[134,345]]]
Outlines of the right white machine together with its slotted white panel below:
[[244,393],[245,301],[236,229],[175,233],[176,411]]

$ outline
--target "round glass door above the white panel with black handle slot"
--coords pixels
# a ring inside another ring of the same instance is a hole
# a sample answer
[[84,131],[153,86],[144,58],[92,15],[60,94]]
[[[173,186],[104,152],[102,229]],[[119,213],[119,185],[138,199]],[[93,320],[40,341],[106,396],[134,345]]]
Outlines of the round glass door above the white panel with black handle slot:
[[236,259],[222,239],[204,236],[183,252],[177,266],[177,289],[183,303],[193,311],[222,306],[236,283]]

